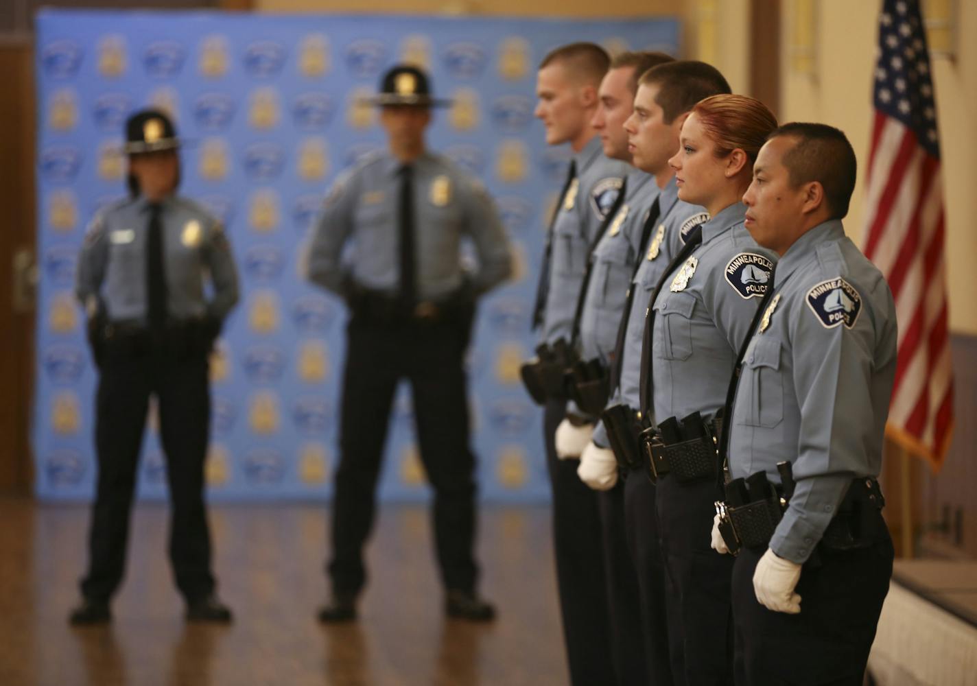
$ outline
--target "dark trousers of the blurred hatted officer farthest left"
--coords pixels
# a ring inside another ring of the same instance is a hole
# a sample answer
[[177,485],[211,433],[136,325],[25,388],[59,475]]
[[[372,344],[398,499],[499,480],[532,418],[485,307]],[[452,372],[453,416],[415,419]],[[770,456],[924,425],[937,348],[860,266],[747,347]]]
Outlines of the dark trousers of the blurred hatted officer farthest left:
[[203,501],[210,427],[207,350],[192,338],[160,350],[144,337],[106,342],[96,406],[98,487],[89,534],[89,571],[81,592],[107,601],[125,570],[149,396],[155,395],[170,490],[170,561],[177,587],[192,602],[214,590],[210,532]]

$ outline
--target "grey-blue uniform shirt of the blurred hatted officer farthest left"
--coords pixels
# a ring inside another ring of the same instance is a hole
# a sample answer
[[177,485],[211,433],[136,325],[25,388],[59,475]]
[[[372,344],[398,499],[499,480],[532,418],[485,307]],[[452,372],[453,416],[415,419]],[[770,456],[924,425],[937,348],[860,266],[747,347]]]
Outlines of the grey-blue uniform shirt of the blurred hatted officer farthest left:
[[[237,270],[224,229],[195,202],[171,196],[160,204],[167,312],[175,321],[223,320],[237,302]],[[147,239],[149,202],[120,200],[100,211],[89,225],[75,293],[87,307],[98,298],[109,321],[147,322]],[[213,284],[208,299],[204,283]]]

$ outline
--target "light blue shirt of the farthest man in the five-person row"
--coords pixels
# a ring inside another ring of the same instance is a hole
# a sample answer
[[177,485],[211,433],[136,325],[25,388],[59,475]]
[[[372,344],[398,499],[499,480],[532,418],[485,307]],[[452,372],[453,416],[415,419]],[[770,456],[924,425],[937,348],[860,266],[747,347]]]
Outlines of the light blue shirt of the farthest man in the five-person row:
[[594,136],[573,155],[576,179],[557,209],[553,223],[549,286],[543,312],[542,340],[569,342],[576,300],[587,269],[587,255],[601,224],[617,199],[622,179],[630,166],[604,155],[599,136]]

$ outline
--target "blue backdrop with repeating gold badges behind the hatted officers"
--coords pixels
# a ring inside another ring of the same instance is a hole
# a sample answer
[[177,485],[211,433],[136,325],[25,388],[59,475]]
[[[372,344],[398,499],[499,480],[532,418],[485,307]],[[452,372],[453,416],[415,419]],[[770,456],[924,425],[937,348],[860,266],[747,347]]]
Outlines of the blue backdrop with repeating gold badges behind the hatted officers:
[[[548,494],[541,412],[519,382],[547,212],[570,150],[547,148],[536,65],[572,41],[676,54],[677,21],[42,12],[37,20],[36,493],[87,499],[96,473],[95,369],[72,285],[85,228],[123,196],[122,127],[135,109],[171,112],[187,142],[181,192],[220,217],[241,301],[211,365],[212,499],[320,499],[336,463],[342,304],[298,275],[298,252],[336,174],[384,145],[361,107],[398,62],[429,69],[438,110],[429,144],[481,177],[518,255],[516,279],[483,300],[470,361],[481,493]],[[381,497],[427,493],[402,388]],[[165,496],[154,418],[142,497]]]

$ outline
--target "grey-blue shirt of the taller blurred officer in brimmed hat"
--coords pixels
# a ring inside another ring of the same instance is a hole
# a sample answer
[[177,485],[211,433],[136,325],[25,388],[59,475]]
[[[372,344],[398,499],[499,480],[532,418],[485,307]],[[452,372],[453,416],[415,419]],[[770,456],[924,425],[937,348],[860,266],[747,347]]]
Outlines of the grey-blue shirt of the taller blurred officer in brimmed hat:
[[[390,295],[400,290],[402,166],[389,152],[377,153],[335,182],[311,231],[310,280],[340,295],[350,276],[361,286]],[[433,152],[423,153],[411,166],[418,297],[445,298],[465,278],[477,293],[505,280],[512,270],[512,251],[485,187]],[[344,260],[351,238],[351,254]],[[463,238],[472,240],[478,259],[471,275],[461,264]]]

